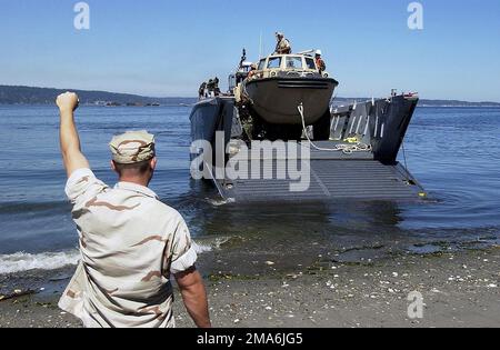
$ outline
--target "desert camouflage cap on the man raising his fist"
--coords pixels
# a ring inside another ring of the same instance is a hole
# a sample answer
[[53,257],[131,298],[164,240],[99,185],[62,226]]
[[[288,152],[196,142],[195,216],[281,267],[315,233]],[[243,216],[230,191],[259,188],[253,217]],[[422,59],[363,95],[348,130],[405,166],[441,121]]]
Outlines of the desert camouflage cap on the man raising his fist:
[[116,136],[109,146],[113,160],[119,164],[133,164],[156,156],[154,136],[148,131],[128,131]]

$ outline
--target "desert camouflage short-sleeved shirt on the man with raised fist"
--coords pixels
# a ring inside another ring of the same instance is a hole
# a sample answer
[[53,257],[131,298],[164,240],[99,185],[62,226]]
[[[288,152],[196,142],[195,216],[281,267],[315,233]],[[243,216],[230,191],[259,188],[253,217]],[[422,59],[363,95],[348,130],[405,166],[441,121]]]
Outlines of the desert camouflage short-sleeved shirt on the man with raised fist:
[[188,227],[148,188],[109,188],[90,169],[76,171],[67,194],[81,262],[60,308],[88,328],[172,328],[171,273],[194,266]]

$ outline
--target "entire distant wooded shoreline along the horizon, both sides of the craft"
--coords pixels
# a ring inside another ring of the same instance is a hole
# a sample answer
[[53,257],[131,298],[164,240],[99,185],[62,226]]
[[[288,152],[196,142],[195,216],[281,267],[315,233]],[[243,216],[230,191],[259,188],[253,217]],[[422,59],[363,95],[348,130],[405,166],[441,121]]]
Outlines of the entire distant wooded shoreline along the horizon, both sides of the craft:
[[[49,89],[0,86],[0,104],[50,104],[59,93],[74,91],[83,104],[111,106],[179,106],[196,103],[196,98],[150,98],[107,91],[83,91],[72,89]],[[336,98],[336,104],[366,101],[369,98]],[[500,107],[499,102],[467,102],[456,100],[420,100],[420,107]]]

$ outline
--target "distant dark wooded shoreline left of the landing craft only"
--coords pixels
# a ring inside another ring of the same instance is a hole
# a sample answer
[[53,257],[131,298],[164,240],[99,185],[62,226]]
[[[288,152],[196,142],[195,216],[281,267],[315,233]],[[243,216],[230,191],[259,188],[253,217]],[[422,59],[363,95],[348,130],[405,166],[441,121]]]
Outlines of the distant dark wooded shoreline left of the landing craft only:
[[49,104],[54,102],[58,94],[66,91],[77,92],[82,104],[179,106],[196,102],[193,98],[149,98],[107,91],[0,86],[0,104]]

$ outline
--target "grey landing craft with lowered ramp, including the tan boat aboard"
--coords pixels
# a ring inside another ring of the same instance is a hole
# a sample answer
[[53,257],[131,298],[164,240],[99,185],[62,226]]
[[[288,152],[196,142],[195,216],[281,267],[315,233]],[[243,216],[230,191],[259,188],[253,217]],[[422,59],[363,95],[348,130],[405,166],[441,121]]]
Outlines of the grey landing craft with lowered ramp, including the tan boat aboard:
[[[332,96],[338,84],[330,73],[320,72],[308,52],[271,54],[256,67],[243,51],[237,71],[229,77],[230,91],[201,99],[193,107],[191,137],[211,144],[211,150],[216,144],[228,150],[210,159],[222,158],[226,164],[238,159],[247,162],[244,169],[257,164],[259,171],[271,169],[278,176],[254,177],[251,171],[251,178],[212,176],[206,180],[212,181],[223,199],[237,202],[427,199],[423,188],[397,160],[418,94],[392,92],[389,98],[336,106]],[[251,151],[252,143],[276,140],[298,142],[307,151],[292,157],[276,149],[264,152],[271,157]],[[192,159],[203,153],[192,151]],[[196,170],[204,174],[221,173],[220,162],[199,166]],[[290,190],[297,179],[289,169],[307,171],[310,184],[302,191]]]

